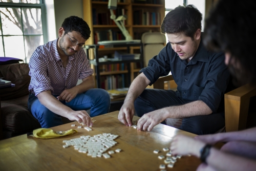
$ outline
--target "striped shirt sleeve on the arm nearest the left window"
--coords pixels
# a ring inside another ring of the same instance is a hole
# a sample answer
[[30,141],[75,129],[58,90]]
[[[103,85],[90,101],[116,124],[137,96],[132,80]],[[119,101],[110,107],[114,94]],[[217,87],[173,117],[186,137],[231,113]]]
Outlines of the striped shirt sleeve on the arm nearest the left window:
[[45,54],[38,47],[32,54],[29,61],[29,75],[31,77],[31,87],[35,92],[35,96],[44,91],[53,92],[50,78],[47,75],[47,59]]

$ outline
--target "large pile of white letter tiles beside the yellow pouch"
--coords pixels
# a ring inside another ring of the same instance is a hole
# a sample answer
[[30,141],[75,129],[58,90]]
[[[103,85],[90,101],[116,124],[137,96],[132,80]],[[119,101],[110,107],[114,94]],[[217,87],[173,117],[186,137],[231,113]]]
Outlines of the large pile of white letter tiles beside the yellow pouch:
[[109,151],[109,154],[104,153],[117,143],[114,141],[117,137],[118,135],[111,133],[103,133],[94,136],[81,136],[80,138],[63,140],[63,143],[66,143],[63,147],[67,148],[72,145],[78,152],[87,153],[87,156],[92,156],[94,158],[101,156],[104,158],[110,158],[111,156],[109,154],[114,154],[115,152],[119,153],[121,151],[121,149],[118,148],[115,152]]

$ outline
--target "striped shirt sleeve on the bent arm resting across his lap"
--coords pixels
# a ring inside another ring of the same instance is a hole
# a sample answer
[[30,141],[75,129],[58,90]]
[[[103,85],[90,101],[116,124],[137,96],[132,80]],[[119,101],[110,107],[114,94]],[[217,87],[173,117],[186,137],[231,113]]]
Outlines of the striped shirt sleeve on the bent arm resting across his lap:
[[81,62],[81,72],[79,75],[79,79],[84,79],[93,74],[93,69],[91,69],[90,67],[90,61],[88,60],[86,53],[83,50],[81,50],[81,53],[83,56],[83,60]]

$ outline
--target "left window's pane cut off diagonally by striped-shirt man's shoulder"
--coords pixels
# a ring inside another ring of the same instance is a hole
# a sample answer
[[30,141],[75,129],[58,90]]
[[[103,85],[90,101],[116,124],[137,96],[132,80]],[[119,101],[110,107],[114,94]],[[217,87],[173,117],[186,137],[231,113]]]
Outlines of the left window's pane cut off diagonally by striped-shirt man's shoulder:
[[42,36],[24,36],[24,38],[25,38],[25,50],[26,50],[26,56],[27,56],[26,62],[28,63],[35,49],[40,45],[44,45],[44,38]]

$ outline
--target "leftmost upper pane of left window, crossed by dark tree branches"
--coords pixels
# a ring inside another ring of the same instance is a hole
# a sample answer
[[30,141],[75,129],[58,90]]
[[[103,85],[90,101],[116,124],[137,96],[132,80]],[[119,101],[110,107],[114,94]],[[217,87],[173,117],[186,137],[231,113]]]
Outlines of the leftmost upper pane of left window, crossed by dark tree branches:
[[4,35],[22,35],[20,8],[0,8]]

